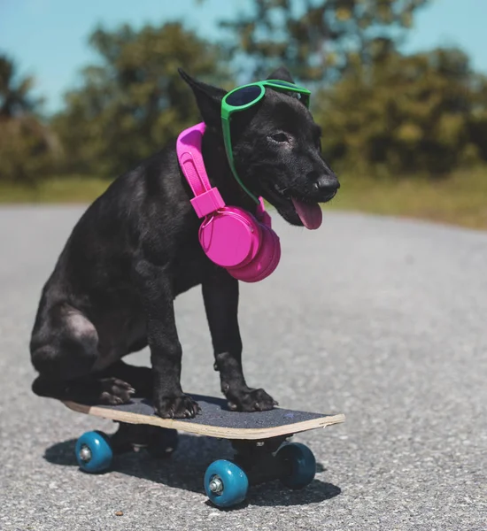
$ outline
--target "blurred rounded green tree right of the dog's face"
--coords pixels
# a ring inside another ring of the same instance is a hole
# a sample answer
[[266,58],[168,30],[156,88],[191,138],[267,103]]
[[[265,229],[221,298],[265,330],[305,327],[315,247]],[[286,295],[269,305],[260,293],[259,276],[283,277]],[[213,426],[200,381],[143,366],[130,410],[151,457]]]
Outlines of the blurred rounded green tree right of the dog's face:
[[486,89],[460,50],[357,59],[315,98],[323,150],[358,173],[449,173],[485,158]]

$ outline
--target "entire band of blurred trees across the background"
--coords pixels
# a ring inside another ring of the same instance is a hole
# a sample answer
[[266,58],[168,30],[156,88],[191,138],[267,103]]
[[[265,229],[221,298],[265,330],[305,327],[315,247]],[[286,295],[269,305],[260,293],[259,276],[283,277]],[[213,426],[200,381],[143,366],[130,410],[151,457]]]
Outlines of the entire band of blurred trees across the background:
[[98,27],[89,37],[97,59],[49,120],[33,79],[0,56],[0,181],[128,171],[199,119],[180,66],[230,89],[243,66],[255,80],[286,65],[313,90],[324,153],[338,170],[434,177],[486,161],[486,78],[460,50],[398,51],[428,2],[249,0],[222,22],[223,44],[177,22]]

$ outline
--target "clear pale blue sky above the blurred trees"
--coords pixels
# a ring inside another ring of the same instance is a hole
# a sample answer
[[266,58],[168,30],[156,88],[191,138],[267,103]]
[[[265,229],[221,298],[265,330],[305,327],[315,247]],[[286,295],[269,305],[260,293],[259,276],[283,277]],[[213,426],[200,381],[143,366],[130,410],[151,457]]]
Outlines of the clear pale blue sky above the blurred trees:
[[[93,61],[87,39],[98,23],[140,27],[181,19],[200,35],[211,37],[216,21],[232,18],[247,0],[0,0],[0,51],[19,61],[21,73],[35,76],[46,110],[62,104],[62,94],[77,81],[83,65]],[[459,46],[472,65],[487,73],[485,22],[487,0],[433,0],[415,19],[406,51],[437,45]]]

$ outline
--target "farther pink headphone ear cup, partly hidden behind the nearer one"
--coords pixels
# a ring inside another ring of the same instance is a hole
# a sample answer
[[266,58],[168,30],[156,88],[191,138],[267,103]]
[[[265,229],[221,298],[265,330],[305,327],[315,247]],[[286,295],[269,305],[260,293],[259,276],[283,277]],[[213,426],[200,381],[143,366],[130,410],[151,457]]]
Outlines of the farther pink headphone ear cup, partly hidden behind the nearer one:
[[256,257],[246,266],[228,268],[234,278],[245,282],[258,282],[264,280],[274,272],[281,259],[281,243],[279,236],[272,228],[260,225],[262,242]]

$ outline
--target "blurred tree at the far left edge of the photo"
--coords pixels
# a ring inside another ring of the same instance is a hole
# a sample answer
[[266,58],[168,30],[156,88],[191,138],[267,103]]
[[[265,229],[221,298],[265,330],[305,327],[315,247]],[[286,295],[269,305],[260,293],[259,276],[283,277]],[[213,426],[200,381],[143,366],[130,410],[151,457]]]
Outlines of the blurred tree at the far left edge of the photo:
[[0,55],[0,181],[35,184],[59,155],[59,144],[38,115],[32,77],[19,79],[12,59]]

